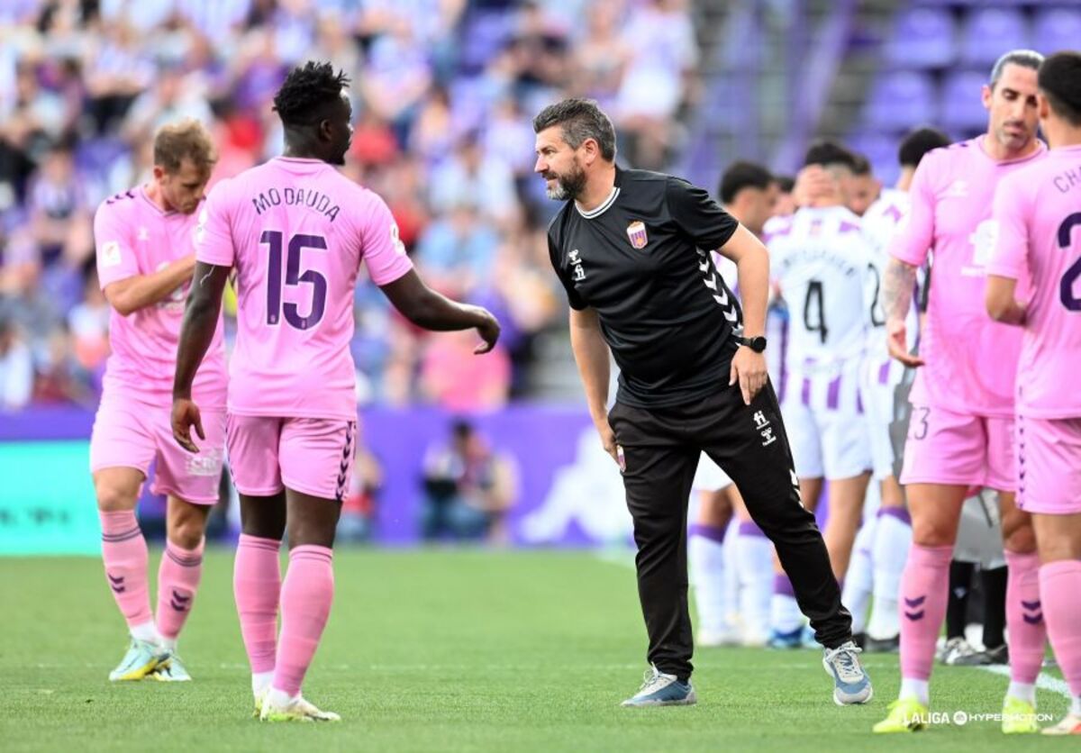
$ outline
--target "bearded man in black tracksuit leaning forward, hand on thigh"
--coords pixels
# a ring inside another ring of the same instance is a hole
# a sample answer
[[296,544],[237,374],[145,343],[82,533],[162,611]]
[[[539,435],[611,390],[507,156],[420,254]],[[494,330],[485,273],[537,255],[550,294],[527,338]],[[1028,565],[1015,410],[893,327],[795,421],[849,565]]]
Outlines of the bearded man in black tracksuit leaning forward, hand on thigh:
[[[615,166],[615,130],[588,99],[534,120],[548,197],[551,264],[571,305],[571,346],[604,449],[619,463],[638,544],[650,636],[646,673],[624,705],[695,702],[686,588],[686,509],[700,452],[735,482],[777,548],[825,646],[838,703],[870,700],[852,618],[814,515],[800,503],[770,386],[763,332],[769,253],[709,194],[676,177]],[[710,252],[738,268],[743,311]],[[609,349],[619,390],[605,413]]]

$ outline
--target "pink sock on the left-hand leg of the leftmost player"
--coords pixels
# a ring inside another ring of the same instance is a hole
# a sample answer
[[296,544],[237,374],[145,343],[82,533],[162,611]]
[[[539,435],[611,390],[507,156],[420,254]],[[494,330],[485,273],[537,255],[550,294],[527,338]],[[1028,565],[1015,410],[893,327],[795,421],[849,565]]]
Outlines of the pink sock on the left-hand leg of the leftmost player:
[[[102,560],[112,597],[133,634],[154,631],[150,595],[146,583],[146,539],[135,520],[134,510],[98,511],[102,521]],[[137,635],[136,637],[142,637]]]

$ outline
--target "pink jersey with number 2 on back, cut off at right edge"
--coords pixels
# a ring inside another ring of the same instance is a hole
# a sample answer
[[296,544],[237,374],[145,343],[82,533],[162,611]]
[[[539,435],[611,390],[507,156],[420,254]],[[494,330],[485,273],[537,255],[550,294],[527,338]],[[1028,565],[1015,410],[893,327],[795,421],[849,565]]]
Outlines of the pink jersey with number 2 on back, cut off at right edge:
[[1031,281],[1017,367],[1017,413],[1081,418],[1081,146],[1052,149],[995,194],[988,274]]

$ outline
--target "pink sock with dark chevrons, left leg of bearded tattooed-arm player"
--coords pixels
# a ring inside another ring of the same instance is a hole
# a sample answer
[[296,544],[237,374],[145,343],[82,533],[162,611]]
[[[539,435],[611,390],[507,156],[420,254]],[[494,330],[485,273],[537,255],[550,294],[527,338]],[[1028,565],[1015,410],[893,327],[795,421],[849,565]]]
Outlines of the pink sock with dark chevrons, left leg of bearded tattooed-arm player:
[[913,543],[900,579],[900,676],[931,677],[935,641],[949,600],[949,561],[953,547]]

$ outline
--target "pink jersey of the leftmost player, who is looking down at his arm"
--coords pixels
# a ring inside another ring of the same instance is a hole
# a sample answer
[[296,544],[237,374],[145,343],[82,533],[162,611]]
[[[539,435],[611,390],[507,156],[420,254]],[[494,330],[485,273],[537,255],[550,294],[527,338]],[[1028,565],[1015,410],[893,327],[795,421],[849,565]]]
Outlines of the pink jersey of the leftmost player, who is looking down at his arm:
[[[94,215],[97,277],[110,283],[152,274],[195,251],[197,214],[162,212],[143,188],[118,193]],[[176,348],[190,283],[158,304],[122,317],[109,313],[109,355],[105,389],[155,405],[173,402]],[[208,408],[225,407],[226,373],[222,320],[192,385],[192,396]]]

